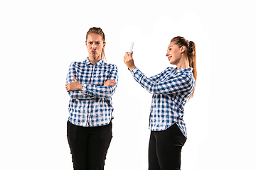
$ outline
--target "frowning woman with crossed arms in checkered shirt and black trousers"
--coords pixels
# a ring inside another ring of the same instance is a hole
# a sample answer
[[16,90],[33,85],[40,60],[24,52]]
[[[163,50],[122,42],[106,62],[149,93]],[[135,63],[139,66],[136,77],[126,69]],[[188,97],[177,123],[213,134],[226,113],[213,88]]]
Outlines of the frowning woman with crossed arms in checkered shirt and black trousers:
[[72,62],[65,89],[70,95],[67,137],[75,170],[104,169],[112,140],[112,95],[117,87],[117,66],[105,60],[105,34],[90,28],[85,45],[89,57]]

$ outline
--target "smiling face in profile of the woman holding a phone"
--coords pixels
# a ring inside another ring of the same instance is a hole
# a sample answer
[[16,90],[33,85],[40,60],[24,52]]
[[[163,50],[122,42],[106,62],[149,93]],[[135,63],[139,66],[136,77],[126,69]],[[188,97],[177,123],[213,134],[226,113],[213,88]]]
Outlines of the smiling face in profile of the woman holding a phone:
[[168,45],[166,53],[166,57],[168,57],[170,64],[178,64],[178,62],[181,60],[182,52],[182,47],[178,47],[175,42],[171,42]]

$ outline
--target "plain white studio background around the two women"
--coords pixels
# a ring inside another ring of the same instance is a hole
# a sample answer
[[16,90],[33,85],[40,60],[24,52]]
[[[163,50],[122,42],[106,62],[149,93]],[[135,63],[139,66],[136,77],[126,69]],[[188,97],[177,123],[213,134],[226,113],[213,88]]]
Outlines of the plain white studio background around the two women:
[[181,169],[255,169],[255,9],[252,1],[1,1],[0,169],[72,169],[66,139],[70,62],[102,28],[117,64],[105,169],[147,169],[151,94],[123,63],[151,77],[169,67],[171,38],[196,42],[198,81],[184,119]]

